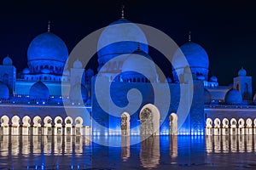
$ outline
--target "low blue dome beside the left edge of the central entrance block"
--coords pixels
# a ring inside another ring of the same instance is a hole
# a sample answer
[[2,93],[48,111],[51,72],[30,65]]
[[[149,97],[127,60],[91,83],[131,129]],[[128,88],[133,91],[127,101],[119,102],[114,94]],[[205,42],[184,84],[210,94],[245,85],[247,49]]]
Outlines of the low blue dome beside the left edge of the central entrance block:
[[84,87],[83,84],[76,84],[72,88],[70,88],[69,98],[71,100],[79,102],[81,97],[83,101],[86,101],[88,99],[88,90]]

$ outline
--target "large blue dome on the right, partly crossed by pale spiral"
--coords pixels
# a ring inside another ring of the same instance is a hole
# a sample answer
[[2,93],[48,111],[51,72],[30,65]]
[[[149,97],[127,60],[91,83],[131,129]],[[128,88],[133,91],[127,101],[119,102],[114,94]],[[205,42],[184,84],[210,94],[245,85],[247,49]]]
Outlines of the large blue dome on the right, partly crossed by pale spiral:
[[172,73],[175,82],[178,82],[178,75],[182,74],[183,70],[188,66],[183,62],[183,59],[181,59],[181,55],[184,55],[187,59],[192,74],[195,74],[196,76],[203,76],[205,77],[205,80],[208,79],[208,54],[201,45],[189,41],[178,48],[177,52],[173,56],[172,65],[175,65],[176,71],[173,69]]

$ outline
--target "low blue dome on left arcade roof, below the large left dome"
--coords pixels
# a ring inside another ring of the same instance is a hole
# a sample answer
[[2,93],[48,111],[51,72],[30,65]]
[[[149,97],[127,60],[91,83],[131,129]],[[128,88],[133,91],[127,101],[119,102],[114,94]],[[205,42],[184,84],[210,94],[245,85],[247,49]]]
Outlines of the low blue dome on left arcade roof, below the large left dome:
[[29,90],[30,99],[49,99],[49,89],[44,82],[35,82]]

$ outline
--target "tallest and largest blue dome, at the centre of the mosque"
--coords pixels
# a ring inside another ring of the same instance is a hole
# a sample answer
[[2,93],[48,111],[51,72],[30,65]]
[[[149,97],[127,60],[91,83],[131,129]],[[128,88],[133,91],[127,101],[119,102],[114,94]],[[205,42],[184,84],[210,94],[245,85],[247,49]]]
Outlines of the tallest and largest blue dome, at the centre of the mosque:
[[148,54],[148,41],[139,26],[125,19],[111,23],[98,40],[99,69],[115,56],[133,53],[137,49],[137,42],[141,42],[141,50]]

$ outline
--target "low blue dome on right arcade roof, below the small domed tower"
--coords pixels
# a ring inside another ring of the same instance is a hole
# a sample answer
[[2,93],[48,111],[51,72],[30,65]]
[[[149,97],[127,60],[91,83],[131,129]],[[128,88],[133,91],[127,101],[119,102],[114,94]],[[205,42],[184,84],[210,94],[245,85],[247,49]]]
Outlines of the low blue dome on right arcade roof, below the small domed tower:
[[241,104],[241,101],[242,101],[241,94],[238,90],[231,88],[227,92],[227,94],[225,94],[224,101],[226,104],[230,104],[230,105]]

